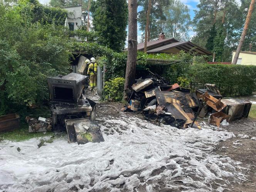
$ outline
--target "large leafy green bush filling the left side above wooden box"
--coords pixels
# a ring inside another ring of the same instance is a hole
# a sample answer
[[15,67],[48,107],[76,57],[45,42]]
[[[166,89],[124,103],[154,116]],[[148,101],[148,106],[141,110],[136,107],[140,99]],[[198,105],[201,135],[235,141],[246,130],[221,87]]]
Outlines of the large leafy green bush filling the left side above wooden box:
[[40,106],[49,99],[47,77],[68,72],[69,37],[41,16],[33,3],[0,2],[0,114]]

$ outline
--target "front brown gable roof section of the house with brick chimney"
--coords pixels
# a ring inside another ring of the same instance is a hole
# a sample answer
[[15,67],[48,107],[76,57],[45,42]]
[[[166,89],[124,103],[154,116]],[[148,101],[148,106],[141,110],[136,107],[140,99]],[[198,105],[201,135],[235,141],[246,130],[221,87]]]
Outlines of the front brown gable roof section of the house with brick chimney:
[[160,45],[158,47],[155,47],[154,49],[149,49],[147,53],[157,53],[157,52],[165,52],[169,49],[177,48],[179,50],[183,50],[185,52],[194,52],[195,54],[206,54],[211,55],[212,53],[205,50],[202,47],[199,47],[198,45],[193,44],[190,41],[181,41],[181,42],[173,42],[166,45]]

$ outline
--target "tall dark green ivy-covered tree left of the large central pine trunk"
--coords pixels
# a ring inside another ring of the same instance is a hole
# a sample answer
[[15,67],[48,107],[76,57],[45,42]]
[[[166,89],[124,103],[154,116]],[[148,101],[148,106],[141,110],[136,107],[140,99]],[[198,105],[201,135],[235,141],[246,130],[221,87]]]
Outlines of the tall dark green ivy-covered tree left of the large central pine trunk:
[[101,45],[121,52],[125,47],[128,6],[126,0],[97,0],[92,3],[94,30]]

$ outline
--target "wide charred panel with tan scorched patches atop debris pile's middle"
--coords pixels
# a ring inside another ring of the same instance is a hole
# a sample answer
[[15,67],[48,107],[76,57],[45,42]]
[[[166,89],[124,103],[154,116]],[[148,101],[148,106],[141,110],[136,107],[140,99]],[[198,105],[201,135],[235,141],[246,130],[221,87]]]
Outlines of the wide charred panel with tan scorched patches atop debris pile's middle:
[[195,93],[177,91],[155,91],[158,104],[180,103],[182,108],[194,108],[199,106]]

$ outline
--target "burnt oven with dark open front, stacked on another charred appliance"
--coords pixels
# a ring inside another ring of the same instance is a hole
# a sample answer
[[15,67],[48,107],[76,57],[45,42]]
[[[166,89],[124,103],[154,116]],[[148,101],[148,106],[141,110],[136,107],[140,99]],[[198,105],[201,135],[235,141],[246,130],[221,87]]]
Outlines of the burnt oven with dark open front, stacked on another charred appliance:
[[88,76],[73,72],[66,76],[48,77],[51,101],[77,103],[87,78]]

